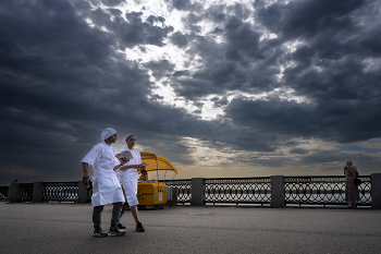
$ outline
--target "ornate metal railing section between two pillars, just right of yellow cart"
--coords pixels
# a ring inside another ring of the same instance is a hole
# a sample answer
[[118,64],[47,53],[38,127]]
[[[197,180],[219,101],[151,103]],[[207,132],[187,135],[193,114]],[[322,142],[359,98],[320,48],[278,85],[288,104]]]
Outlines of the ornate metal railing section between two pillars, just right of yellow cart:
[[205,179],[205,202],[270,204],[271,178]]

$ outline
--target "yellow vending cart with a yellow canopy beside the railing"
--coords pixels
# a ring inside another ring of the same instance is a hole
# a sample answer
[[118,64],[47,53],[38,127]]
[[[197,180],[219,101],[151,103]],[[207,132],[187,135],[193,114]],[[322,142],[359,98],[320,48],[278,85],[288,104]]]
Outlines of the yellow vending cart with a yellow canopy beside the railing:
[[176,176],[177,171],[164,157],[147,152],[140,152],[140,156],[142,164],[148,165],[146,166],[147,173],[142,173],[137,183],[138,206],[149,206],[151,208],[159,206],[162,208],[167,203],[167,185],[164,183],[165,177],[162,179],[162,181],[159,181],[159,174],[158,179],[148,180],[148,173],[152,171],[158,172],[159,170],[165,170],[165,173],[167,171],[173,171]]

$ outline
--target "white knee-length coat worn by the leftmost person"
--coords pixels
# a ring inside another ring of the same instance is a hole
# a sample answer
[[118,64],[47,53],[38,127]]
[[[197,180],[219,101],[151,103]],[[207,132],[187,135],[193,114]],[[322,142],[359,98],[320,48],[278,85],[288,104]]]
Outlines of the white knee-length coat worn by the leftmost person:
[[94,169],[91,205],[125,202],[122,186],[113,168],[119,164],[115,149],[105,142],[99,143],[83,158]]

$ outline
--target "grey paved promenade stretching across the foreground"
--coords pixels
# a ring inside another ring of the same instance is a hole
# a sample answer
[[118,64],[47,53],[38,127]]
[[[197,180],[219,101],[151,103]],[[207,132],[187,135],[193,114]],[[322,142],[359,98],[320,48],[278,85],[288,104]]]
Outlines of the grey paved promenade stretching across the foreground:
[[[112,206],[102,213],[109,228]],[[381,210],[176,206],[94,238],[89,204],[0,202],[0,253],[380,253]]]

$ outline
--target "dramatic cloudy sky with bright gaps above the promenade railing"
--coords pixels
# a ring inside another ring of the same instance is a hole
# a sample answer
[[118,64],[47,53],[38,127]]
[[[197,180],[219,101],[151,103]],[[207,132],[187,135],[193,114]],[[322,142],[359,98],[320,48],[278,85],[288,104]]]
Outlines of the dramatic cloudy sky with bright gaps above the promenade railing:
[[81,180],[106,126],[177,179],[340,176],[347,159],[380,172],[380,10],[1,0],[0,184]]

